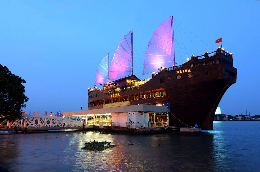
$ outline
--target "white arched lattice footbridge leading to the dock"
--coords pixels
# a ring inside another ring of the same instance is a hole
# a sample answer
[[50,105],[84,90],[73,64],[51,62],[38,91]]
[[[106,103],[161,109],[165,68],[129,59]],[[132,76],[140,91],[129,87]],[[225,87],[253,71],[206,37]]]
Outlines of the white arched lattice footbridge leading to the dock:
[[[86,128],[92,128],[84,124]],[[0,131],[47,131],[61,129],[83,129],[83,122],[56,116],[23,115],[16,121],[0,122]]]

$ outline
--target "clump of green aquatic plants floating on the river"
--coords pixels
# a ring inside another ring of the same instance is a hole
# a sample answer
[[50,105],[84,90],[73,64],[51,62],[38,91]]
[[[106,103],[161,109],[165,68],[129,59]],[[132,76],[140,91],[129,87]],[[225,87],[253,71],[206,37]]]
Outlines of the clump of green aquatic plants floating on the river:
[[87,150],[95,150],[101,152],[102,150],[105,150],[107,148],[112,148],[115,147],[115,144],[110,144],[110,142],[103,141],[103,142],[98,142],[98,141],[91,141],[85,143],[85,146],[81,149],[87,149]]

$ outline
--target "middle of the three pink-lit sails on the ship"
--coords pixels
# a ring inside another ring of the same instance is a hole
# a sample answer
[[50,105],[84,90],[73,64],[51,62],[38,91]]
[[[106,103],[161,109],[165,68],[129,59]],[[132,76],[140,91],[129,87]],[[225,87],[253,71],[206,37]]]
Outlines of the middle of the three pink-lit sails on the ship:
[[132,30],[119,43],[111,61],[108,82],[124,78],[133,73],[133,36]]

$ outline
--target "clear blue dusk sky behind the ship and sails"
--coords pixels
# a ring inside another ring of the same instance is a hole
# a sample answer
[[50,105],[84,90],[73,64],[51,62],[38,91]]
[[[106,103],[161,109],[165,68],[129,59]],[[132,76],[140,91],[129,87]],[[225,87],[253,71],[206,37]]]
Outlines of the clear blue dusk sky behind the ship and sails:
[[[221,99],[221,112],[250,109],[260,115],[259,9],[255,0],[0,1],[0,63],[26,80],[24,111],[87,110],[87,89],[94,86],[98,64],[108,51],[112,58],[131,29],[134,74],[148,78],[141,75],[148,42],[172,15],[176,27],[188,29],[183,40],[189,56],[215,51],[218,38],[233,53],[237,83]],[[180,65],[187,55],[175,51],[175,57]]]

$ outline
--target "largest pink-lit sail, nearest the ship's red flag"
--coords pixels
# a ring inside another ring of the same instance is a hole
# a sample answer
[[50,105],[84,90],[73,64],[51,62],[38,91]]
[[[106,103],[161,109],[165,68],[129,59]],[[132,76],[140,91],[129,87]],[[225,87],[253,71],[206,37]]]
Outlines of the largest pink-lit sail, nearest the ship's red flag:
[[148,43],[143,64],[143,75],[172,67],[174,59],[173,17],[161,23]]

